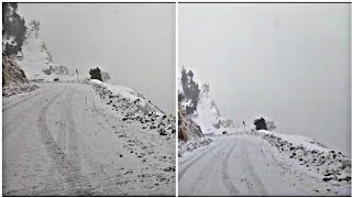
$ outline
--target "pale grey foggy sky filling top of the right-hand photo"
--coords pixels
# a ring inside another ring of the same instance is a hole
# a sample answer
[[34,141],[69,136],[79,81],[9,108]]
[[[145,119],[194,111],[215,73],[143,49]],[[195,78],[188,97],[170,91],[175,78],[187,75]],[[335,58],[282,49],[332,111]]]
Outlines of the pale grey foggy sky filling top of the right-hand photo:
[[179,6],[179,65],[210,84],[221,114],[351,155],[351,4]]

